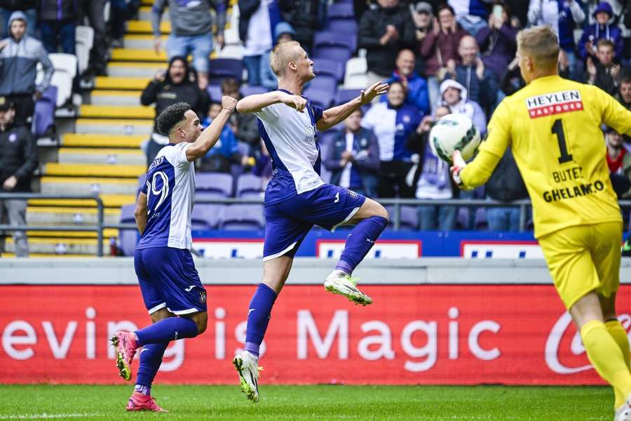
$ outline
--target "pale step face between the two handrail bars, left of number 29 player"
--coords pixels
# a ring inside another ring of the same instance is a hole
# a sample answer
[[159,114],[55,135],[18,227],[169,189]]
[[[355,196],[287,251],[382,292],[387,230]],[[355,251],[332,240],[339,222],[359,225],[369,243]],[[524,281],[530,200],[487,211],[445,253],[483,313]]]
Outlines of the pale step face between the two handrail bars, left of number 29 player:
[[[120,209],[103,210],[103,221],[106,224],[118,224],[120,220]],[[29,206],[27,221],[30,225],[95,225],[97,224],[97,210],[95,208]]]

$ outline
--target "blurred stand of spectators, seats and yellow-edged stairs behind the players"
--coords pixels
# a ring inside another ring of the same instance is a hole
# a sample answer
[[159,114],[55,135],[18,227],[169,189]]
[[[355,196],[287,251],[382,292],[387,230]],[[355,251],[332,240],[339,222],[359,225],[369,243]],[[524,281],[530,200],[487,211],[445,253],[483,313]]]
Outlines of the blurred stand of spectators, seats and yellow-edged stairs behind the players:
[[[321,171],[323,180],[374,198],[440,200],[406,210],[411,229],[519,229],[518,208],[448,203],[527,198],[510,150],[487,185],[459,192],[428,133],[449,113],[466,114],[486,133],[496,105],[524,86],[515,57],[521,28],[550,25],[562,47],[559,73],[631,107],[625,0],[0,0],[0,21],[1,191],[110,194],[106,206],[123,206],[121,220],[143,169],[168,143],[155,116],[185,101],[208,124],[222,95],[276,89],[269,52],[290,40],[314,62],[303,95],[320,107],[390,83],[383,98],[318,134]],[[233,114],[196,162],[199,193],[262,194],[272,170],[257,126],[253,114]],[[614,187],[625,197],[629,139],[603,131]],[[42,151],[45,140],[53,154]],[[71,177],[87,187],[67,187]],[[114,180],[133,187],[110,189]],[[27,208],[29,220],[38,211],[24,200],[1,203],[0,220],[11,223],[25,222]],[[226,220],[206,222],[229,229]],[[27,248],[24,234],[13,241],[15,250]]]

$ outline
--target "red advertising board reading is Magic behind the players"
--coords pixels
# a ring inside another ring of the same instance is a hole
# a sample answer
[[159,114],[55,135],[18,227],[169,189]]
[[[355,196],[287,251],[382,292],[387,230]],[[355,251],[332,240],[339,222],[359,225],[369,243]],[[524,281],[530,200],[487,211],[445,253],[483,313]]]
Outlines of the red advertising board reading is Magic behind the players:
[[[262,382],[602,384],[552,286],[363,288],[369,307],[322,286],[287,286],[264,342]],[[230,361],[254,289],[208,286],[208,330],[170,345],[157,381],[236,383]],[[630,298],[623,286],[625,328]],[[136,286],[1,286],[0,308],[0,383],[122,382],[108,337],[149,323]]]

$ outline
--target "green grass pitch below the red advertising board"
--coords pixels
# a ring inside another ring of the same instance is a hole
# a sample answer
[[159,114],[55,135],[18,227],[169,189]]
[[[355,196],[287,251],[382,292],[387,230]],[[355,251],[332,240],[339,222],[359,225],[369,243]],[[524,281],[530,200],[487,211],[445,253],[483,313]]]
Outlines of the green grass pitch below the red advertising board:
[[151,390],[168,414],[126,413],[132,385],[0,385],[0,420],[612,420],[609,387],[238,386]]

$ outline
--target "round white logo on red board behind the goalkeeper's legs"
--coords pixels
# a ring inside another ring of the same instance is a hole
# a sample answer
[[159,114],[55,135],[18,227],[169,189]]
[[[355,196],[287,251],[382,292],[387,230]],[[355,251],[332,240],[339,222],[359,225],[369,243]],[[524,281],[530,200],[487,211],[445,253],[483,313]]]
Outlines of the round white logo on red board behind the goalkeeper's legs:
[[[622,324],[623,328],[628,331],[629,326],[631,326],[631,316],[629,314],[620,314],[620,316],[618,316],[618,320]],[[567,334],[567,330],[571,323],[572,316],[570,316],[568,312],[565,312],[559,320],[557,320],[555,326],[552,326],[550,335],[548,335],[548,340],[545,341],[545,363],[548,365],[550,370],[557,374],[580,373],[581,371],[592,368],[591,364],[571,367],[565,366],[561,361],[559,361],[559,346],[561,345],[562,339]],[[583,341],[581,340],[581,333],[578,331],[574,333],[574,336],[572,337],[569,351],[574,356],[585,353],[585,347],[583,347]]]

